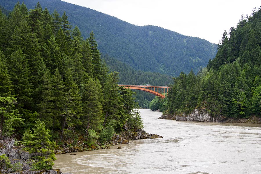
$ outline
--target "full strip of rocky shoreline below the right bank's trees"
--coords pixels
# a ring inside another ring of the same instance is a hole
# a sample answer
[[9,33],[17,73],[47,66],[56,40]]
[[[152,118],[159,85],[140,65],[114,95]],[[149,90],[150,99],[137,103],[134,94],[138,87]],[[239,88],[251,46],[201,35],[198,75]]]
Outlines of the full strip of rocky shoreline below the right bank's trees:
[[176,121],[191,121],[191,122],[228,122],[228,123],[253,123],[253,124],[261,124],[261,118],[252,115],[248,119],[244,118],[226,118],[222,115],[218,115],[217,117],[213,117],[207,113],[205,109],[194,109],[189,114],[163,114],[158,119],[170,119]]

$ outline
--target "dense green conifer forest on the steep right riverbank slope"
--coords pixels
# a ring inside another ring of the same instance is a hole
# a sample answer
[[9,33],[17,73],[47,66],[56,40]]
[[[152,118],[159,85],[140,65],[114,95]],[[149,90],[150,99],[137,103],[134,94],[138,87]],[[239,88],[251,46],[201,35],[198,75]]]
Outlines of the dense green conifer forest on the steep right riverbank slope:
[[151,108],[189,113],[205,108],[213,117],[248,118],[261,112],[261,10],[224,31],[218,52],[197,75],[174,79],[167,99],[154,99]]

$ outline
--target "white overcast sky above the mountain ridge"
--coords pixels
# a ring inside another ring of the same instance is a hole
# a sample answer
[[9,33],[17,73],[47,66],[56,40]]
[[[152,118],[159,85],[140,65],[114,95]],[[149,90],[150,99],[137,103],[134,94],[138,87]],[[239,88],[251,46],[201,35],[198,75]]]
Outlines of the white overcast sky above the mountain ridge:
[[137,26],[154,25],[218,44],[224,30],[251,15],[260,0],[62,0]]

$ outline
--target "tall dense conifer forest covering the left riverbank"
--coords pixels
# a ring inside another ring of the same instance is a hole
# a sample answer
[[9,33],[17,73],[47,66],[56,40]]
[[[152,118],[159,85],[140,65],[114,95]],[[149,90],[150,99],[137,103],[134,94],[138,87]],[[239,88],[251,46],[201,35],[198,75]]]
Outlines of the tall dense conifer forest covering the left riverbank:
[[118,73],[102,61],[94,33],[83,39],[66,12],[35,5],[18,2],[8,16],[0,11],[0,139],[22,140],[37,154],[33,168],[48,169],[54,141],[104,143],[142,121],[133,92],[119,87]]

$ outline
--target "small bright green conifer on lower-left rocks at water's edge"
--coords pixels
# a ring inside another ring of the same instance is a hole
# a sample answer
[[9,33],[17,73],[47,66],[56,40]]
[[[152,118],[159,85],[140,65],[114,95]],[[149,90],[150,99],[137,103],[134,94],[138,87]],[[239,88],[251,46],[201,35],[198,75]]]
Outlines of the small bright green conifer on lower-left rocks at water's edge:
[[46,129],[46,124],[38,119],[33,131],[32,133],[30,129],[27,129],[22,140],[22,144],[26,146],[24,150],[35,154],[31,158],[32,168],[34,170],[52,169],[53,161],[56,159],[54,154],[56,144],[49,140],[50,130]]

